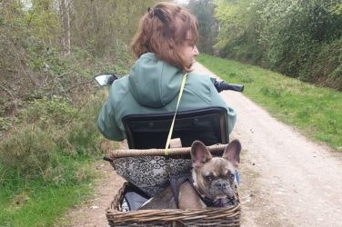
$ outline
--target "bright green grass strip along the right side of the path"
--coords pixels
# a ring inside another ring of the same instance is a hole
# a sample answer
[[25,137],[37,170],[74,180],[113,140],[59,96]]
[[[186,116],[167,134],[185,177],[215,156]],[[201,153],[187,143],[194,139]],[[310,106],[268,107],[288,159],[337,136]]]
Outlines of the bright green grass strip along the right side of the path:
[[278,120],[342,151],[342,93],[206,54],[197,61],[226,82],[245,84],[244,94]]

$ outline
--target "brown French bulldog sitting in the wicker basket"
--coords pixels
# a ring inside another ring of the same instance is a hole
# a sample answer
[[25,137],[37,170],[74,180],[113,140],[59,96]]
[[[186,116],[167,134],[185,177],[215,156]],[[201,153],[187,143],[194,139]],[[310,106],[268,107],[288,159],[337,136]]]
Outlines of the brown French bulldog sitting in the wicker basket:
[[[236,171],[240,163],[241,143],[228,144],[222,157],[213,157],[206,145],[195,141],[191,145],[192,173],[182,180],[179,192],[168,186],[141,210],[147,209],[199,209],[207,206],[225,207],[236,200]],[[174,187],[175,188],[175,187]],[[178,194],[175,199],[175,194]]]

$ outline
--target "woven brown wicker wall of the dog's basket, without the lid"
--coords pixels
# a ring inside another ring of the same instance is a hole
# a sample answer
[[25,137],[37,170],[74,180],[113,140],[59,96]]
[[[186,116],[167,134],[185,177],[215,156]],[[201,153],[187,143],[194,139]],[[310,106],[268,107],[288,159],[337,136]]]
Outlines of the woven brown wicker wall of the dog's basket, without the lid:
[[[110,226],[239,226],[240,203],[224,208],[204,209],[163,209],[120,212],[124,192],[128,183],[116,194],[111,206],[106,210]],[[237,191],[236,191],[236,195]]]

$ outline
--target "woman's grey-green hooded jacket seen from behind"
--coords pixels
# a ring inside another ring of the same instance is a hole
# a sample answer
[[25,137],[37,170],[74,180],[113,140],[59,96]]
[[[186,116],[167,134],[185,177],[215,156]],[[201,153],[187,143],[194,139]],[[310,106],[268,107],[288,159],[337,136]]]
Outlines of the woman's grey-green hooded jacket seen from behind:
[[[124,116],[175,112],[183,75],[182,70],[157,59],[155,54],[141,55],[130,73],[112,84],[97,121],[100,132],[107,139],[121,141],[126,138]],[[226,108],[230,133],[236,123],[236,112],[222,100],[209,76],[187,74],[178,111],[210,106]]]

